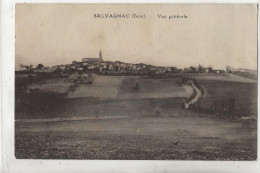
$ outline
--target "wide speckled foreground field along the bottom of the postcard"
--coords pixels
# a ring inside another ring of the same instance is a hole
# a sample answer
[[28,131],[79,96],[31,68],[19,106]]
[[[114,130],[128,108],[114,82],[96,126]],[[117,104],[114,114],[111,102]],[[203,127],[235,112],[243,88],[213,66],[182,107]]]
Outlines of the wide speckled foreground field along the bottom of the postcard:
[[197,116],[16,122],[18,159],[255,160],[256,128]]

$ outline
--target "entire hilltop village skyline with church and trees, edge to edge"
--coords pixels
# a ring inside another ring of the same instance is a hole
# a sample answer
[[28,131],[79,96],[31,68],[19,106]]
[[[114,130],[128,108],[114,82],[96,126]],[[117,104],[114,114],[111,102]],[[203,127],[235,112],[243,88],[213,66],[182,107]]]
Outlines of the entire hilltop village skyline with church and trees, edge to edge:
[[55,65],[52,67],[44,67],[42,64],[38,64],[37,67],[33,68],[32,65],[26,66],[21,65],[24,70],[16,71],[16,73],[34,73],[34,74],[45,74],[48,76],[67,76],[73,73],[95,73],[103,75],[149,75],[149,76],[171,76],[177,73],[255,73],[247,69],[234,69],[227,66],[225,70],[213,69],[213,67],[204,67],[198,65],[196,67],[190,66],[184,69],[177,67],[161,67],[148,65],[144,63],[126,63],[121,61],[104,61],[102,57],[102,52],[100,50],[98,58],[82,58],[82,61],[72,61],[71,64],[66,65]]

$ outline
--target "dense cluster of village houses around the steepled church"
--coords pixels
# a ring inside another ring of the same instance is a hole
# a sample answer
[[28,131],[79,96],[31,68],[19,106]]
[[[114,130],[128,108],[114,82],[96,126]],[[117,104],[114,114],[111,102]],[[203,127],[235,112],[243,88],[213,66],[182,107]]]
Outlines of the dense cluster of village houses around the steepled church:
[[179,69],[177,67],[160,67],[147,65],[144,63],[125,63],[121,61],[104,61],[101,50],[98,58],[83,58],[82,61],[72,61],[67,65],[56,65],[53,67],[42,67],[33,69],[34,73],[53,73],[53,74],[71,74],[74,72],[92,72],[92,73],[225,73],[224,70],[215,70],[212,67],[188,67]]

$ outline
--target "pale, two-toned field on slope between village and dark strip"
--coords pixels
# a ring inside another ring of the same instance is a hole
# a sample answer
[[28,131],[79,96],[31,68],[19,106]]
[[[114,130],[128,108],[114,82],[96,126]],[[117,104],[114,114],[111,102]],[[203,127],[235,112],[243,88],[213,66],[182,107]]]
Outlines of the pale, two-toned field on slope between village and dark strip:
[[[139,90],[134,90],[136,84]],[[180,85],[177,79],[143,79],[127,76],[95,76],[92,85],[78,85],[67,98],[139,99],[189,97],[192,87]]]

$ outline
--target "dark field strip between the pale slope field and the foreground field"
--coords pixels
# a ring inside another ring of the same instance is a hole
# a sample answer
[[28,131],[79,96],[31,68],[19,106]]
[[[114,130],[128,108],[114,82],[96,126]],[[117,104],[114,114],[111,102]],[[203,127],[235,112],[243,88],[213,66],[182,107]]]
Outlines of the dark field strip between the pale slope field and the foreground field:
[[38,94],[23,99],[16,104],[16,119],[179,114],[183,98],[103,100]]

